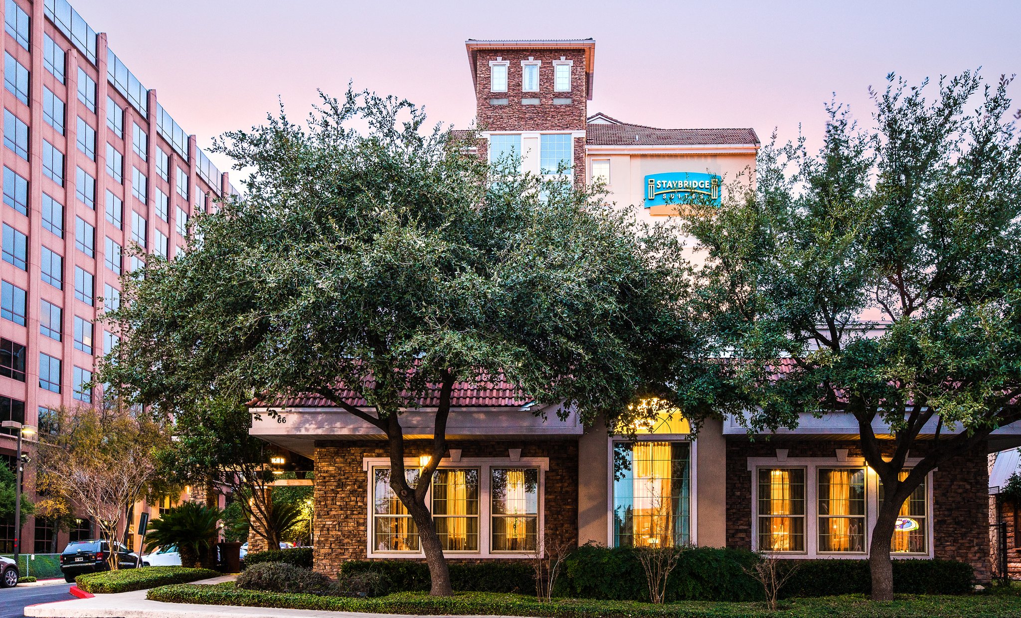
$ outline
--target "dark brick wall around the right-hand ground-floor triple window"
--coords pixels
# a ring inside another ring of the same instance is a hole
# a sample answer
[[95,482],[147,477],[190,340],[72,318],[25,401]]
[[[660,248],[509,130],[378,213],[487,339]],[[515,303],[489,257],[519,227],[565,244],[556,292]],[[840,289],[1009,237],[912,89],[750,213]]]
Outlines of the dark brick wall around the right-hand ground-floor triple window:
[[[747,458],[776,457],[777,448],[786,448],[791,459],[832,459],[837,448],[846,448],[848,457],[862,457],[859,442],[849,440],[728,440],[728,546],[751,549],[751,472]],[[924,451],[922,443],[912,449],[912,456],[921,457]],[[990,573],[985,459],[984,449],[961,456],[940,466],[932,479],[933,556],[971,564],[979,581],[987,581]],[[813,479],[806,481],[814,482]]]

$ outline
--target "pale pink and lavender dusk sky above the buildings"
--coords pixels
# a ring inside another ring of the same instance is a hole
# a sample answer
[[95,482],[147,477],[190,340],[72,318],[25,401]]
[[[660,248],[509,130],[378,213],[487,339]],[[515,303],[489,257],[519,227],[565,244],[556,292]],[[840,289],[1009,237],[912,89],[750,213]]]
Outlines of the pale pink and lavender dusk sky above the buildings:
[[[72,0],[199,145],[260,123],[278,96],[304,116],[315,89],[475,114],[464,42],[596,41],[589,112],[662,128],[751,127],[818,146],[836,93],[868,122],[869,86],[982,67],[1021,73],[1021,2],[328,2]],[[1021,87],[1012,86],[1021,98]],[[1021,106],[1021,104],[1019,104]],[[222,171],[229,164],[211,155]]]

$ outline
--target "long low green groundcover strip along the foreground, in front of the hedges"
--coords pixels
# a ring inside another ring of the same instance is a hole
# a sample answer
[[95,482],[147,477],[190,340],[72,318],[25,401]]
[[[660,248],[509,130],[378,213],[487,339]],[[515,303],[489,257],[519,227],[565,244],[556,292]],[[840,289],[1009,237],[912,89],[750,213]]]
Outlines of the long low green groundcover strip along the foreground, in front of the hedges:
[[370,612],[411,615],[495,615],[548,618],[992,618],[1021,617],[1021,600],[1016,593],[944,596],[897,596],[892,603],[872,603],[859,595],[794,599],[770,613],[763,603],[686,601],[664,606],[629,601],[557,599],[538,603],[522,595],[457,592],[453,597],[430,597],[425,592],[398,592],[378,599],[347,599],[258,592],[218,585],[168,585],[149,590],[151,601],[234,605],[302,610]]

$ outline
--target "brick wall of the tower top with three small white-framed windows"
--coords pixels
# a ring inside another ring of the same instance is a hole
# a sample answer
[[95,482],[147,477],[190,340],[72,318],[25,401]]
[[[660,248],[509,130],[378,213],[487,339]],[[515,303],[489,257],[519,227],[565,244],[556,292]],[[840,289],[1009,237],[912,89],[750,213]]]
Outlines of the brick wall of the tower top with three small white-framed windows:
[[[490,92],[489,61],[499,56],[509,61],[507,91]],[[572,60],[571,92],[553,90],[553,60]],[[539,91],[522,92],[522,60],[539,60]],[[482,131],[584,131],[587,113],[585,91],[585,52],[580,49],[503,49],[480,50],[476,56],[475,97],[479,128]],[[539,99],[538,105],[524,105],[522,99]],[[571,99],[570,104],[554,105],[553,99]],[[490,99],[506,99],[494,105]]]

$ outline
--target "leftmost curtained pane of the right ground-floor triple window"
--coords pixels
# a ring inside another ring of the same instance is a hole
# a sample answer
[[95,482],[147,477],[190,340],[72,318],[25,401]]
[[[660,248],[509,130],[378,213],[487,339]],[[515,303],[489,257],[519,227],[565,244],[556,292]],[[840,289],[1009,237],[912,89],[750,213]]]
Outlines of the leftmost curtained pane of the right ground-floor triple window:
[[805,551],[805,469],[759,469],[759,542],[763,552]]

